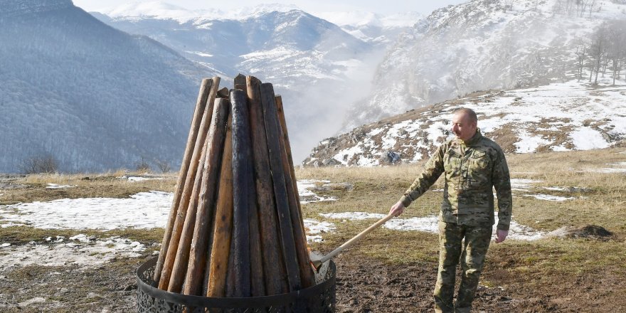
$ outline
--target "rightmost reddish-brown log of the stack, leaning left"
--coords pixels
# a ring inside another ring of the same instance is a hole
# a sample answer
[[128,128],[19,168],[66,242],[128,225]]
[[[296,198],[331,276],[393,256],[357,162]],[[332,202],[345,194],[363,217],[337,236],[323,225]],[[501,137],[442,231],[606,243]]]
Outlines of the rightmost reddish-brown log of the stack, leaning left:
[[[279,107],[282,108],[282,103],[280,103],[280,105],[276,103],[276,105],[277,109]],[[277,113],[280,121],[280,111],[277,110]],[[285,133],[287,128],[283,128],[282,123],[280,123],[280,126],[280,152],[282,157],[283,170],[285,171],[285,185],[287,186],[287,197],[289,200],[290,216],[294,230],[294,239],[296,243],[296,253],[298,256],[300,279],[302,280],[302,288],[307,288],[315,285],[315,273],[313,272],[313,267],[311,266],[311,260],[309,258],[307,235],[304,233],[302,213],[299,209],[298,189],[297,185],[295,185],[295,175],[292,174],[294,172],[293,166],[290,165],[292,164],[292,162],[290,163],[289,157],[287,156],[288,154],[290,154],[287,151],[287,143],[285,142]]]

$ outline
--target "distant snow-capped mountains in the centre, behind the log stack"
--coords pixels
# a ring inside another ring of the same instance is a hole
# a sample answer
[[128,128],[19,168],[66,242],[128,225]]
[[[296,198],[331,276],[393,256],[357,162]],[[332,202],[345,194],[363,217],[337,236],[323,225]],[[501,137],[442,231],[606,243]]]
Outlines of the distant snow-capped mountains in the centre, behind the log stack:
[[297,160],[341,127],[349,105],[368,90],[386,48],[292,6],[189,11],[157,1],[94,15],[164,43],[223,77],[243,73],[272,83],[285,103]]

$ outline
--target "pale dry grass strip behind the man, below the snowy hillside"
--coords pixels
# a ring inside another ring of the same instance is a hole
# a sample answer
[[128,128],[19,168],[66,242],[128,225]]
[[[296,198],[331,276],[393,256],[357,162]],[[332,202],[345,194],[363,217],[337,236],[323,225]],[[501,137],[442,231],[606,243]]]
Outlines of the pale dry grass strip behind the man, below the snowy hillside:
[[[626,234],[623,223],[626,203],[626,174],[601,173],[608,164],[626,161],[624,149],[602,149],[580,152],[514,154],[507,157],[511,178],[533,179],[536,183],[526,192],[514,192],[514,218],[519,223],[541,230],[562,226],[594,224]],[[309,203],[304,216],[319,213],[364,211],[386,213],[422,169],[423,163],[386,167],[331,167],[297,169],[298,179],[327,179],[354,184],[351,191],[328,191],[339,201]],[[542,187],[578,187],[572,191],[549,191]],[[431,189],[442,188],[442,179]],[[537,200],[524,194],[547,194],[573,197],[569,201]],[[428,191],[405,212],[405,217],[437,214],[442,194]]]

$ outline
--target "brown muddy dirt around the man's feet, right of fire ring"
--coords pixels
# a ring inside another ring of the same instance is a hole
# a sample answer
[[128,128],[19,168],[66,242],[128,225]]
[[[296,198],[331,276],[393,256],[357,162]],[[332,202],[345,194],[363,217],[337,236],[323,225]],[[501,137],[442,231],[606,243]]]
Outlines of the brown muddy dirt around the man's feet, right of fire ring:
[[[587,273],[579,276],[523,277],[516,280],[500,256],[483,278],[503,287],[479,285],[472,312],[625,312],[624,277]],[[504,264],[503,264],[504,263]],[[337,312],[433,312],[435,262],[386,265],[378,260],[337,258]],[[460,277],[457,271],[457,284]],[[528,287],[528,280],[538,284]]]

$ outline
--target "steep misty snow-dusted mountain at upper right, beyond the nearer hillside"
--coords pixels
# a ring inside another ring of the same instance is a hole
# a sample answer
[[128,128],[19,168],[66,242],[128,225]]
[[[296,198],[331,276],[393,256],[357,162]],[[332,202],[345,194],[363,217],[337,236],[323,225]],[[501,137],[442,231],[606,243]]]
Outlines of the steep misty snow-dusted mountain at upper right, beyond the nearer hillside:
[[626,18],[618,2],[474,0],[437,9],[388,51],[376,88],[344,129],[477,90],[562,80],[601,23]]

